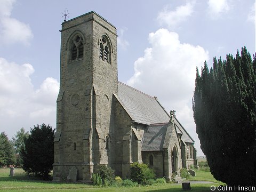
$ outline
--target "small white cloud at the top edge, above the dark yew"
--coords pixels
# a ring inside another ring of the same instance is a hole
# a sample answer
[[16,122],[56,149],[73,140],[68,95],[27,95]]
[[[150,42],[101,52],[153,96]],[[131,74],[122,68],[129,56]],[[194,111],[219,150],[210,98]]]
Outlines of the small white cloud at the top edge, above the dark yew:
[[220,13],[230,10],[228,0],[209,0],[208,7],[212,18],[218,18]]

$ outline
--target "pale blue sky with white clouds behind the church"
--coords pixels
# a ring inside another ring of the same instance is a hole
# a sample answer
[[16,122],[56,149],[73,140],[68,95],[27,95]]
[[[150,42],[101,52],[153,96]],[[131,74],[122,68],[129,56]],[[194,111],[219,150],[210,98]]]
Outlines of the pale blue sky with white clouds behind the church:
[[56,127],[60,29],[95,11],[117,28],[118,81],[156,96],[195,140],[196,67],[246,46],[255,53],[255,1],[0,0],[0,132]]

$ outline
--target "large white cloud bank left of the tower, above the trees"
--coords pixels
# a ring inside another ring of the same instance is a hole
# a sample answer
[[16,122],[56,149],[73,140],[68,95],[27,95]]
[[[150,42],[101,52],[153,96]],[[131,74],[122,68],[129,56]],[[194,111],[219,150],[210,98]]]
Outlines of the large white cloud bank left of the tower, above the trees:
[[0,132],[10,138],[21,127],[27,131],[42,123],[55,127],[59,83],[47,77],[35,90],[30,78],[34,71],[29,63],[18,65],[0,58]]

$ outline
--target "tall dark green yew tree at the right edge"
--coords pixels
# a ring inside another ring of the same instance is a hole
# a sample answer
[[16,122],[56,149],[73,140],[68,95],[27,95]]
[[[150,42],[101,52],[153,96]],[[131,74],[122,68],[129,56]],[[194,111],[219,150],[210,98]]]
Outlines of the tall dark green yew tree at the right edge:
[[256,62],[246,48],[236,57],[206,62],[196,72],[196,132],[214,178],[228,185],[256,184]]

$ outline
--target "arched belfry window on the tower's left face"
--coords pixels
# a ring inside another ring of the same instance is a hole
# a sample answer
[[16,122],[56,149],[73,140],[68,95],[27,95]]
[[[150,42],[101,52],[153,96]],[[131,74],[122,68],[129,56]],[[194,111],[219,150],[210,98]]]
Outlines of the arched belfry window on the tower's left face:
[[84,56],[84,42],[81,35],[76,35],[71,41],[70,60],[77,60]]

